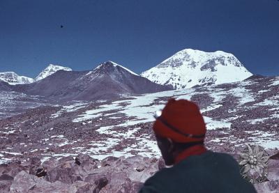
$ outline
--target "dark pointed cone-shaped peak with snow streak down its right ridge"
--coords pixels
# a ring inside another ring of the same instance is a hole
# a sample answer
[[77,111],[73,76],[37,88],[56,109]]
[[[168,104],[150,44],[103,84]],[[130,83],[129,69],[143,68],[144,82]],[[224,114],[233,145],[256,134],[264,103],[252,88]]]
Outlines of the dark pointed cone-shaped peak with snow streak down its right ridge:
[[[167,86],[155,84],[121,65],[107,61],[54,95],[73,100],[98,100],[167,90],[170,90]],[[75,96],[68,95],[73,91],[76,92]]]

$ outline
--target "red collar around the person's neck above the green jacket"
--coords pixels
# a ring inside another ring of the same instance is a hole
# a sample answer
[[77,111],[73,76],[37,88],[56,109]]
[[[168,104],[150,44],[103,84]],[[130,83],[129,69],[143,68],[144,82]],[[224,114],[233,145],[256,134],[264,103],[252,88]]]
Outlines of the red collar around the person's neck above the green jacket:
[[206,152],[206,148],[204,144],[197,144],[195,146],[190,146],[184,150],[181,150],[179,153],[176,154],[174,159],[174,164],[185,160],[187,157],[191,155],[201,155],[202,153]]

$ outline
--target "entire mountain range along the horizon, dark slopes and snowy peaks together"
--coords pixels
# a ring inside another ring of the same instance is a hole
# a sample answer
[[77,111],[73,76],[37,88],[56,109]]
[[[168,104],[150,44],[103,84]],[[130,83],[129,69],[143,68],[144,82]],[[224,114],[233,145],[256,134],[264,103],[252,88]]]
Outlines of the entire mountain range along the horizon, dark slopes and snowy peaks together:
[[141,75],[113,61],[81,72],[50,64],[34,79],[1,72],[0,90],[54,100],[97,100],[239,82],[251,76],[233,54],[183,49]]

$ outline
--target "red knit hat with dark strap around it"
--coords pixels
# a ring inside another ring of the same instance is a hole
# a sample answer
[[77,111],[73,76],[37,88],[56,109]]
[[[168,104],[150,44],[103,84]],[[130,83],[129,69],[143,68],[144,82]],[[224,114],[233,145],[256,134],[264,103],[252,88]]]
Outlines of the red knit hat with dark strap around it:
[[153,125],[155,134],[179,143],[204,141],[206,127],[199,107],[188,100],[170,99]]

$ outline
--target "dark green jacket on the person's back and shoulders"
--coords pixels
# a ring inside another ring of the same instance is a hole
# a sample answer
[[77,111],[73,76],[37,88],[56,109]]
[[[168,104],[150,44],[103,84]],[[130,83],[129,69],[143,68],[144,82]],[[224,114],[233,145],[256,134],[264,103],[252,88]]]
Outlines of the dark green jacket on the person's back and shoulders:
[[158,171],[144,183],[140,193],[145,192],[250,193],[256,190],[241,178],[239,165],[231,155],[208,150]]

